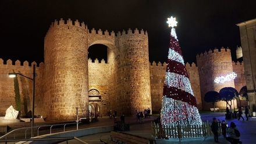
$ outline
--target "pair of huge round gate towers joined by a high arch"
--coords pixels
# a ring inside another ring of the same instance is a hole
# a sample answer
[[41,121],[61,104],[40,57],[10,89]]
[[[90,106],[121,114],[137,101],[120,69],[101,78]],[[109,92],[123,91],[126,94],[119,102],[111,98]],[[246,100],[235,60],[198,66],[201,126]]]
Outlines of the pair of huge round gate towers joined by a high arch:
[[[88,47],[93,44],[108,46],[107,75],[88,82]],[[116,36],[61,19],[52,23],[45,36],[44,57],[45,114],[51,120],[73,120],[76,107],[79,117],[88,116],[88,88],[99,85],[107,93],[103,99],[109,110],[132,114],[151,109],[148,35],[143,30],[129,29]]]

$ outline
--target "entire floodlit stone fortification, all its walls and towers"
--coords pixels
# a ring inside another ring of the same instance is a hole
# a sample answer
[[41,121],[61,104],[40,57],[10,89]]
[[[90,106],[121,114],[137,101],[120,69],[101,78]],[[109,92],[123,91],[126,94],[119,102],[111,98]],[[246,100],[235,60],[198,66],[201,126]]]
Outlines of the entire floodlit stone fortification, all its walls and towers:
[[[108,47],[108,63],[88,59],[88,48],[94,44]],[[136,110],[161,109],[166,63],[149,63],[147,31],[109,33],[89,30],[77,20],[55,20],[45,36],[44,57],[44,63],[37,67],[35,114],[47,120],[75,120],[76,107],[79,117],[88,117],[89,103],[97,106],[100,116],[106,116],[109,110],[130,115]],[[239,91],[245,85],[243,63],[232,63],[229,49],[198,55],[197,65],[187,63],[186,69],[199,109],[211,107],[203,100],[207,91],[222,87]],[[8,77],[13,70],[28,76],[33,72],[28,62],[20,65],[19,60],[13,64],[0,59],[1,116],[10,105],[15,107],[13,79]],[[237,73],[236,80],[214,84],[216,76],[233,71]],[[22,77],[18,80],[24,115],[31,110],[32,84]],[[91,89],[97,89],[99,100],[89,101]],[[218,107],[223,109],[223,102]]]

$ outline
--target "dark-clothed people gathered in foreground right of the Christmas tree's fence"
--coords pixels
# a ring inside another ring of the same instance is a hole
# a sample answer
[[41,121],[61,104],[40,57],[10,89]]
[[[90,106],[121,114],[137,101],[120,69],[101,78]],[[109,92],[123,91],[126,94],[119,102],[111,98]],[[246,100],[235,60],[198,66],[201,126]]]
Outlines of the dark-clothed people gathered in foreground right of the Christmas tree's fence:
[[234,122],[231,122],[229,127],[225,120],[221,122],[214,117],[211,124],[211,130],[212,133],[214,134],[215,142],[219,142],[219,123],[221,123],[222,135],[227,141],[229,141],[232,144],[241,143],[240,132],[237,129],[236,124],[234,124]]

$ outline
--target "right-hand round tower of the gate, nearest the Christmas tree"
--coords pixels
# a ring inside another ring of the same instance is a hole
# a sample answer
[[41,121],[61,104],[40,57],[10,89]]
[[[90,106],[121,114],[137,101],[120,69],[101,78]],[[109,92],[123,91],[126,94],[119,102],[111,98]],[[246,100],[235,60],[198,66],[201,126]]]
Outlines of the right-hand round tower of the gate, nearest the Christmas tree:
[[152,109],[147,31],[129,29],[118,33],[117,37],[120,46],[119,109],[126,114]]

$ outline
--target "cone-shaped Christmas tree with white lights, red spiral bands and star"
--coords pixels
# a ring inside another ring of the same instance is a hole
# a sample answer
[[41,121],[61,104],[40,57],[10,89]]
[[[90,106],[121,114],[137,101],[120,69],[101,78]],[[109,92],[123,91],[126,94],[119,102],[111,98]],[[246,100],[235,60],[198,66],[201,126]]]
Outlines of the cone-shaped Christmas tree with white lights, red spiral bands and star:
[[163,86],[161,123],[162,125],[199,125],[202,124],[201,117],[174,28],[177,26],[176,18],[168,18],[167,23],[172,29]]

